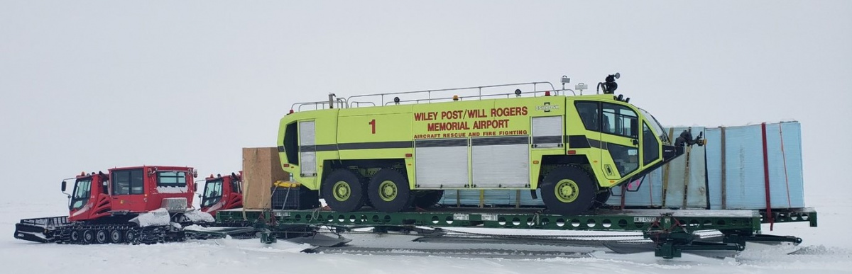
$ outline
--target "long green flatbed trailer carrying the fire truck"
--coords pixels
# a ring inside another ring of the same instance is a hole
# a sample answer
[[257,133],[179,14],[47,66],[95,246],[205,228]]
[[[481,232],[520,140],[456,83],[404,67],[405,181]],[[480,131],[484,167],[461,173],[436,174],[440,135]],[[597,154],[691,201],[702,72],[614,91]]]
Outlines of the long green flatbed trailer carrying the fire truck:
[[[310,210],[229,209],[216,213],[218,222],[254,221],[269,235],[303,232],[304,227],[483,227],[554,231],[638,231],[656,243],[655,255],[680,257],[683,250],[743,250],[746,242],[801,243],[792,236],[762,234],[761,225],[809,222],[817,225],[813,208],[773,209],[773,218],[761,210],[598,209],[594,214],[546,214],[538,208],[440,208],[429,212],[382,213]],[[294,231],[294,228],[296,230]],[[700,241],[696,231],[718,230],[721,243]]]

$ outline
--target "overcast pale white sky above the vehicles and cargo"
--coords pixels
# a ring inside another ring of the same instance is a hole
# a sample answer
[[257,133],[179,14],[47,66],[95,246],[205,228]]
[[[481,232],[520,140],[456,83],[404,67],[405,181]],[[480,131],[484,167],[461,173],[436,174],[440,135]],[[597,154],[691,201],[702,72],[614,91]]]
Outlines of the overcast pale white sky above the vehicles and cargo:
[[0,197],[64,199],[62,178],[115,166],[236,171],[242,147],[275,146],[292,103],[329,92],[594,86],[616,71],[665,125],[800,121],[806,192],[852,190],[849,14],[849,1],[3,0]]

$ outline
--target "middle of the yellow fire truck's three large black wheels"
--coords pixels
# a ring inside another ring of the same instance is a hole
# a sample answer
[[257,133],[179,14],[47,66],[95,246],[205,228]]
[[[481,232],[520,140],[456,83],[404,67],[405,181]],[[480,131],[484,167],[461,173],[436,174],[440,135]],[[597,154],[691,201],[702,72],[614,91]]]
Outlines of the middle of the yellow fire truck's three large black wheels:
[[394,168],[382,168],[373,175],[367,187],[367,196],[373,208],[385,213],[404,211],[414,202],[408,178]]

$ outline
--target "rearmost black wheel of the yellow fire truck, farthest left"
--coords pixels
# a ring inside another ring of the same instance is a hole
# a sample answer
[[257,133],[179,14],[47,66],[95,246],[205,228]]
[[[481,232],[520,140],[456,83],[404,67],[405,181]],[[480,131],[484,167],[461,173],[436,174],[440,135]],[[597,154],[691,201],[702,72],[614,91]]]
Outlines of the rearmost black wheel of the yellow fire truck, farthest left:
[[359,176],[347,169],[331,171],[320,188],[325,203],[334,211],[352,212],[366,203],[367,197]]

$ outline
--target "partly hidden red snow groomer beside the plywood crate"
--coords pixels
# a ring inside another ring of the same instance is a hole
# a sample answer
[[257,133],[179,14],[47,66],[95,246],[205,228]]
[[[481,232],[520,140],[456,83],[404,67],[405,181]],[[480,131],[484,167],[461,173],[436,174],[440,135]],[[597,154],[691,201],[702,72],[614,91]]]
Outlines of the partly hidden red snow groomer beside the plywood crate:
[[204,179],[204,193],[201,198],[201,211],[216,215],[216,211],[243,207],[243,172],[210,174]]

